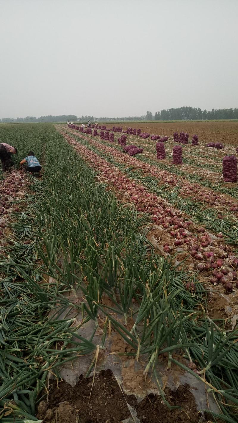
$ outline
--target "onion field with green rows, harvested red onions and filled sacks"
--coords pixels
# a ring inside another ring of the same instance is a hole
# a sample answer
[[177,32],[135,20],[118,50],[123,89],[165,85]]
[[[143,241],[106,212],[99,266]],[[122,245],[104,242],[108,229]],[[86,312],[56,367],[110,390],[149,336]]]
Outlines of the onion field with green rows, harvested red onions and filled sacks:
[[0,125],[3,423],[238,422],[238,146],[139,126]]

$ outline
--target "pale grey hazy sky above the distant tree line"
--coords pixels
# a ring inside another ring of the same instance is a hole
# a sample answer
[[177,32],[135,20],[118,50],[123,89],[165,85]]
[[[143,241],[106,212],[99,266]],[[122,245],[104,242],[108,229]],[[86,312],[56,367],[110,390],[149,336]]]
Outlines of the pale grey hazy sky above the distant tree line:
[[0,118],[238,107],[238,0],[0,0]]

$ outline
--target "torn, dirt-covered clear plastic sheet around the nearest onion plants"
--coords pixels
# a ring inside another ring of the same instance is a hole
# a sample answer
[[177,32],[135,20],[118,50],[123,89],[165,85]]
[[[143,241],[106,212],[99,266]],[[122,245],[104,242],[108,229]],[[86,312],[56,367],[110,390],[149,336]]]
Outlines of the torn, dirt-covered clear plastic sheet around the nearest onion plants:
[[[75,297],[75,294],[77,297]],[[74,293],[71,291],[68,299],[71,304],[74,302],[77,302],[78,304],[78,300],[82,300],[82,297],[82,291],[78,288],[77,293],[75,291]],[[99,312],[98,316],[101,321],[105,319],[105,316],[102,312]],[[119,313],[115,313],[113,317],[120,321],[123,320],[123,316],[121,316]],[[67,308],[63,311],[63,313],[61,313],[60,316],[58,316],[58,319],[65,318],[76,318],[75,324],[80,325],[82,323],[81,313],[74,313],[70,308]],[[82,324],[82,326],[77,330],[77,333],[86,339],[90,339],[95,328],[96,322],[91,319],[88,322]],[[101,345],[102,336],[103,329],[97,326],[96,332],[91,341],[95,345]],[[73,338],[73,341],[76,339],[77,338]],[[102,370],[111,370],[118,382],[120,389],[123,392],[124,397],[126,395],[134,395],[139,403],[145,398],[145,396],[148,396],[150,393],[153,393],[154,395],[160,395],[156,381],[151,373],[149,373],[147,377],[144,374],[145,367],[148,364],[148,356],[139,356],[137,360],[134,356],[119,355],[118,353],[127,352],[129,344],[126,343],[126,341],[124,341],[115,330],[112,330],[110,334],[107,333],[104,346],[105,349],[99,350],[96,368],[93,366],[90,373],[89,369],[95,358],[95,351],[84,356],[79,356],[72,362],[66,362],[62,368],[59,369],[61,378],[68,382],[72,387],[74,387],[79,381],[80,376],[85,376],[87,374],[89,377],[93,375],[94,371],[99,373]],[[212,392],[207,392],[206,385],[202,381],[176,365],[172,365],[172,368],[167,370],[167,359],[163,360],[164,357],[160,358],[161,360],[158,360],[156,364],[156,372],[162,389],[169,387],[172,391],[174,391],[180,385],[188,384],[190,386],[190,392],[193,394],[197,404],[197,409],[199,412],[201,412],[201,414],[202,410],[208,409],[208,404],[211,412],[219,413],[219,407],[213,398]],[[184,365],[188,364],[187,360],[182,360]],[[49,377],[51,377],[51,375],[49,375]],[[133,421],[134,423],[141,423],[137,418],[137,413],[135,410],[129,406],[128,403],[127,405],[130,410],[132,420],[126,419],[126,421],[128,420]]]

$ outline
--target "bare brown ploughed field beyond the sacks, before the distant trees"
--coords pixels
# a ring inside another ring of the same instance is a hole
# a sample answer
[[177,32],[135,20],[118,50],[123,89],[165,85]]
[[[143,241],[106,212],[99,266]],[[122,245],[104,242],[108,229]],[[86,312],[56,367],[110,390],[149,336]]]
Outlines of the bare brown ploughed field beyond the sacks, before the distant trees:
[[[100,122],[101,124],[101,122]],[[219,142],[223,144],[231,144],[238,147],[238,122],[235,121],[202,121],[202,122],[151,122],[151,123],[134,123],[114,124],[110,122],[107,128],[112,126],[122,126],[123,131],[127,128],[140,128],[142,132],[150,134],[173,136],[174,132],[188,132],[190,137],[194,134],[198,135],[200,141]]]

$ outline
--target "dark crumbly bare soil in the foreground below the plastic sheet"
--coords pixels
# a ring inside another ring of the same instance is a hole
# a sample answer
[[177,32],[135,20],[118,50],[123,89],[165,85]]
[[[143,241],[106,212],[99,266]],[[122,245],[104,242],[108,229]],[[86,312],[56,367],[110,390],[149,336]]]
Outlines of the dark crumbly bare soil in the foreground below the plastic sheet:
[[[44,423],[120,423],[131,417],[127,401],[137,412],[141,423],[199,422],[200,413],[189,391],[189,385],[181,385],[174,392],[165,388],[169,404],[181,406],[181,409],[170,410],[164,405],[161,396],[153,394],[137,404],[133,395],[122,393],[110,370],[96,374],[93,388],[92,382],[93,377],[81,377],[75,387],[65,381],[59,382],[58,386],[55,381],[51,382],[48,404],[46,399],[41,401],[37,417],[43,418]],[[206,421],[208,420],[207,416]]]

